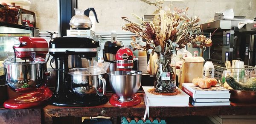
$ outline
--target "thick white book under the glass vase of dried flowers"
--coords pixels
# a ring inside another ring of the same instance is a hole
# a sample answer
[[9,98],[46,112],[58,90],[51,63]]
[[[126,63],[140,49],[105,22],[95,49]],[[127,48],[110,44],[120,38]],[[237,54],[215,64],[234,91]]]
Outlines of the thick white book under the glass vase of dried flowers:
[[176,87],[180,91],[180,94],[174,96],[154,95],[148,93],[148,90],[154,87],[142,87],[143,99],[146,106],[189,106],[189,95],[184,93],[180,88]]

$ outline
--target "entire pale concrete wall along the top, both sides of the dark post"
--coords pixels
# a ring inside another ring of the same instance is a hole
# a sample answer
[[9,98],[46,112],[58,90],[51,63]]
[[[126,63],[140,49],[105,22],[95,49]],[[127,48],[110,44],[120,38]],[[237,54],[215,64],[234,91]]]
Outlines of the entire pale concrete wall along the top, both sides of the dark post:
[[[41,31],[58,31],[57,0],[29,0],[30,10],[35,11],[37,25]],[[152,14],[155,6],[149,6],[140,0],[78,0],[80,9],[94,7],[99,23],[95,25],[96,32],[122,31],[125,22],[121,17],[133,18],[131,13],[143,16]],[[151,0],[153,1],[153,0]],[[214,12],[222,12],[233,8],[235,15],[244,15],[247,18],[256,17],[256,0],[187,0],[178,2],[164,2],[164,6],[172,8],[189,7],[189,16],[199,16],[201,23],[212,20]],[[90,13],[92,14],[92,12]],[[134,18],[133,18],[134,19]],[[136,19],[134,19],[136,21]]]

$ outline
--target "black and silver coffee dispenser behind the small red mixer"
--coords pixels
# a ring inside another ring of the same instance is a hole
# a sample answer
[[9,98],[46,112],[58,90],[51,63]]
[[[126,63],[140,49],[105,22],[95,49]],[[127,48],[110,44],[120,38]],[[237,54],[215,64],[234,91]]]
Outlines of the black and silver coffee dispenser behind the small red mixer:
[[118,70],[116,68],[116,52],[124,47],[122,41],[116,40],[116,31],[111,31],[111,41],[105,42],[103,49],[103,59],[105,62],[110,62],[108,72]]

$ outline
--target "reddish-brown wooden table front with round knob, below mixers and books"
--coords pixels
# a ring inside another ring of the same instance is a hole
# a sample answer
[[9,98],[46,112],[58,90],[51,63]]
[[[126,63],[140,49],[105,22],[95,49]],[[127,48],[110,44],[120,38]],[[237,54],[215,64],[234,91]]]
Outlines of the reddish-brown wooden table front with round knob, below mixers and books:
[[[106,103],[95,107],[57,107],[47,105],[43,108],[45,124],[51,124],[54,117],[88,117],[88,116],[144,116],[145,104],[142,94],[139,93],[142,102],[133,107],[116,107]],[[107,95],[108,97],[111,94]],[[256,104],[235,104],[231,106],[210,107],[150,107],[149,115],[152,117],[174,117],[174,116],[211,116],[211,115],[256,115]]]

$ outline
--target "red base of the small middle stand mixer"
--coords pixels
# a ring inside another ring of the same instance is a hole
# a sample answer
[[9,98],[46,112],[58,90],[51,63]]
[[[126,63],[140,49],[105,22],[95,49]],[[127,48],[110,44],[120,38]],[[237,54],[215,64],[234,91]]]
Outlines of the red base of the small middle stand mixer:
[[131,101],[119,101],[117,99],[118,99],[118,96],[116,94],[113,94],[109,99],[109,103],[118,107],[130,107],[130,106],[135,106],[137,104],[140,104],[141,102],[140,96],[138,96],[137,93],[132,97]]

